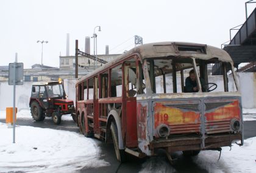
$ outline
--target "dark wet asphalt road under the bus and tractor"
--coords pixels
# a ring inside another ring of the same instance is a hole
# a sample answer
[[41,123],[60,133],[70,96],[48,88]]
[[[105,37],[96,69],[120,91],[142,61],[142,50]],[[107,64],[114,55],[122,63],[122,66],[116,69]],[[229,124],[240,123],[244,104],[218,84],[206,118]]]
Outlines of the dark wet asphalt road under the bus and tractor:
[[[5,123],[5,120],[0,120],[0,122]],[[62,123],[57,126],[53,123],[51,118],[46,118],[43,122],[35,122],[31,119],[21,119],[17,120],[17,125],[20,126],[34,126],[41,128],[51,128],[63,131],[72,131],[79,133],[79,129],[76,126],[76,123],[73,121],[62,121]],[[244,121],[244,138],[256,137],[256,121]],[[96,140],[96,139],[95,139]],[[98,141],[98,140],[96,140]],[[115,150],[113,148],[113,144],[105,144],[99,143],[99,147],[101,148],[101,159],[110,163],[110,166],[104,166],[101,168],[82,168],[80,172],[90,173],[90,172],[140,172],[141,168],[151,165],[145,164],[153,164],[155,166],[158,162],[166,162],[168,163],[165,154],[160,152],[158,156],[151,158],[135,158],[130,157],[129,161],[126,163],[120,164],[115,157]],[[174,158],[177,158],[177,161],[174,166],[166,166],[164,170],[166,172],[200,172],[207,173],[207,170],[202,169],[191,158],[183,157],[181,152],[177,152],[172,155]],[[166,164],[167,165],[167,164]],[[173,170],[172,170],[173,169]]]

